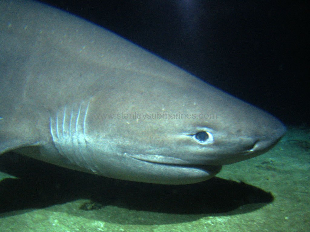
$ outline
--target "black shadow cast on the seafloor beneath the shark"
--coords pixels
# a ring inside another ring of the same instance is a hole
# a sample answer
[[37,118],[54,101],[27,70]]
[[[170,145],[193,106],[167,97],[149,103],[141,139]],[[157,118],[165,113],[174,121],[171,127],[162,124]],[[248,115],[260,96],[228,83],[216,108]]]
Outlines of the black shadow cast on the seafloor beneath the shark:
[[272,194],[262,189],[222,178],[190,185],[137,183],[68,170],[15,153],[0,157],[0,171],[18,177],[0,182],[2,217],[11,211],[89,199],[89,204],[77,210],[113,205],[135,211],[191,214],[198,219],[210,214],[250,212],[273,200]]

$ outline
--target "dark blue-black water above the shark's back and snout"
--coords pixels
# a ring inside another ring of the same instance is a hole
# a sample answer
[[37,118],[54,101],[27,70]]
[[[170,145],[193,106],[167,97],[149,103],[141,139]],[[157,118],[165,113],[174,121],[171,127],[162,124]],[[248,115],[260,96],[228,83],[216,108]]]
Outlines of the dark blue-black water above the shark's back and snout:
[[41,0],[277,116],[310,122],[310,2]]

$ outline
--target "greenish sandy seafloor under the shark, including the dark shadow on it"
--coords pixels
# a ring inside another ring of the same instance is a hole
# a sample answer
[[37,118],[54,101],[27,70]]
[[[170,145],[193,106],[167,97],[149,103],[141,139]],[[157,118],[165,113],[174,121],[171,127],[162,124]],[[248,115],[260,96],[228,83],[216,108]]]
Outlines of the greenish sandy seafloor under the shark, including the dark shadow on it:
[[[184,186],[134,183],[0,157],[0,231],[310,231],[310,128]],[[13,174],[20,178],[9,178]]]

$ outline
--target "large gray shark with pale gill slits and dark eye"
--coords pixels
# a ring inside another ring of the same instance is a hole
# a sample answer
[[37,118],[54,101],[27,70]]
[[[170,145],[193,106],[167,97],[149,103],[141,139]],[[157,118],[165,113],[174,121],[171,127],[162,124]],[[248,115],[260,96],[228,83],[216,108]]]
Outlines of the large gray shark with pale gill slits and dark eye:
[[0,1],[0,154],[189,184],[272,148],[285,127],[108,30]]

